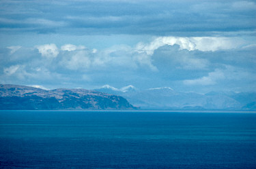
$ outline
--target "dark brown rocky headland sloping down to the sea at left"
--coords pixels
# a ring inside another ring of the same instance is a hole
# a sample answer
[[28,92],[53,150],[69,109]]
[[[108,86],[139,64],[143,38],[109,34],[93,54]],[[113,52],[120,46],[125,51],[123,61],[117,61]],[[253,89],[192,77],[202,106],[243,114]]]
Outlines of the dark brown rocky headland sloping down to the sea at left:
[[122,96],[94,90],[0,85],[0,109],[136,109]]

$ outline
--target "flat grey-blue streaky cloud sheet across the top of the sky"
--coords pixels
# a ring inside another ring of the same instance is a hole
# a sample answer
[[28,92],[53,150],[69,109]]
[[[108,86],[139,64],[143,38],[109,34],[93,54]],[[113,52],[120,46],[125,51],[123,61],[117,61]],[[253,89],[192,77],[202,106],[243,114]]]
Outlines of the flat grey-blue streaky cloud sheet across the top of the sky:
[[191,37],[255,30],[255,1],[1,1],[0,10],[1,31],[19,34]]

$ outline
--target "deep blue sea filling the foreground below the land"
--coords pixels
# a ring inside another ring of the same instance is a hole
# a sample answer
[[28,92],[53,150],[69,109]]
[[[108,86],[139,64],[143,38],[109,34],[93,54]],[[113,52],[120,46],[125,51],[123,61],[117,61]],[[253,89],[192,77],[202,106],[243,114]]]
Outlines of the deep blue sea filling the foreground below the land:
[[0,168],[256,168],[256,113],[0,111]]

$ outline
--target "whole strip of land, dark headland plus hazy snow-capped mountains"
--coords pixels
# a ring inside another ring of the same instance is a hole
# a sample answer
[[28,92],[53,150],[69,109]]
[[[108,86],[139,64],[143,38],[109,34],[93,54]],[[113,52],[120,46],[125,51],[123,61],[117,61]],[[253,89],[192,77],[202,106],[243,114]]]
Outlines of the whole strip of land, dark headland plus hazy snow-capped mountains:
[[43,90],[0,84],[0,109],[227,109],[256,110],[256,92],[177,92],[109,85],[94,90]]

